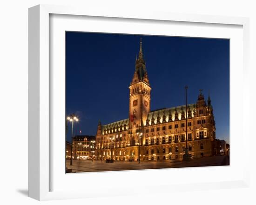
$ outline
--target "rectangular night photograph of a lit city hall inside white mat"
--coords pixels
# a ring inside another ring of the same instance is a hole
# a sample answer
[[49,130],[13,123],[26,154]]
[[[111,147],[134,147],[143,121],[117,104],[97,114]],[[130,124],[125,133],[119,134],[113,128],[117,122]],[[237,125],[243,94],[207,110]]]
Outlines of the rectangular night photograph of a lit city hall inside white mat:
[[229,166],[229,39],[66,32],[65,121],[66,173]]

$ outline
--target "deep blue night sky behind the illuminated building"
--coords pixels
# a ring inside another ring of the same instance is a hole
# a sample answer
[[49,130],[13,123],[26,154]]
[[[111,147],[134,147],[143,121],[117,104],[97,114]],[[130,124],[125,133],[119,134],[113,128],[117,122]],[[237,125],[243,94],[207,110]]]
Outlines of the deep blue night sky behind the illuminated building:
[[[229,143],[229,39],[85,32],[66,33],[66,108],[74,133],[96,135],[102,124],[128,118],[128,86],[140,38],[151,85],[151,110],[195,103],[202,89],[212,100],[216,138]],[[67,140],[71,139],[68,124]]]

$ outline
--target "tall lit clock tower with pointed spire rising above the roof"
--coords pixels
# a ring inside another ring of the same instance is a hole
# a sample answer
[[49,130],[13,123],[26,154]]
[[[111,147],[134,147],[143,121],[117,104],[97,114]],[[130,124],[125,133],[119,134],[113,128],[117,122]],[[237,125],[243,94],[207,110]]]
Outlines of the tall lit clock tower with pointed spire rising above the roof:
[[151,91],[143,58],[142,42],[140,42],[139,57],[136,57],[135,72],[129,90],[129,128],[140,128],[146,124],[150,112]]

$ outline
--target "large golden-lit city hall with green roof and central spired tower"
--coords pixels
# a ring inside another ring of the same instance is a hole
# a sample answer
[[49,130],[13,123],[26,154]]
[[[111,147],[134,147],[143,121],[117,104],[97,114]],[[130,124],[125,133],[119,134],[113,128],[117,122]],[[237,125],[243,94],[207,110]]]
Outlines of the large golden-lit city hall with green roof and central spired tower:
[[[98,124],[95,158],[98,160],[181,160],[186,140],[194,158],[216,154],[215,120],[210,97],[200,90],[197,102],[150,110],[150,83],[140,42],[135,73],[129,86],[129,117]],[[186,136],[186,116],[187,135]],[[188,139],[186,139],[186,137]]]

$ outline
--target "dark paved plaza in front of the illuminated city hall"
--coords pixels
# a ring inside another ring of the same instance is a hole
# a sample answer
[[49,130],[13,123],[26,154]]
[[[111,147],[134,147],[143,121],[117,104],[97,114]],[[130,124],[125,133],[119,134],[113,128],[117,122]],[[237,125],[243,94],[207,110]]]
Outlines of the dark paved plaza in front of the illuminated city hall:
[[140,164],[128,161],[106,163],[105,160],[73,160],[73,166],[70,166],[70,160],[66,160],[66,167],[71,168],[72,173],[227,165],[229,165],[229,156],[202,157],[184,161],[141,161]]

